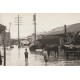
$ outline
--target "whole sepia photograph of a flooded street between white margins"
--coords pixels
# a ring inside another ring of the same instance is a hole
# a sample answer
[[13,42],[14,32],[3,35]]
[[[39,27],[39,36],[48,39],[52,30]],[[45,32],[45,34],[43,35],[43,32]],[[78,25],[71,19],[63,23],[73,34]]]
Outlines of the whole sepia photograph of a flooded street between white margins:
[[80,13],[0,13],[0,66],[80,66]]

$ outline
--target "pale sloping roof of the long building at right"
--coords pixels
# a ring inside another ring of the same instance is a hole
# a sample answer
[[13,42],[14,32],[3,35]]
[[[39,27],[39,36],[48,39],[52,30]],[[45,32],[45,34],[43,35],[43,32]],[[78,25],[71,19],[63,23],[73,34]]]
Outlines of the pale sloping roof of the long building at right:
[[[78,32],[80,31],[80,23],[72,24],[72,25],[67,25],[67,32]],[[46,32],[42,35],[61,35],[64,34],[64,26],[55,28],[49,32]]]

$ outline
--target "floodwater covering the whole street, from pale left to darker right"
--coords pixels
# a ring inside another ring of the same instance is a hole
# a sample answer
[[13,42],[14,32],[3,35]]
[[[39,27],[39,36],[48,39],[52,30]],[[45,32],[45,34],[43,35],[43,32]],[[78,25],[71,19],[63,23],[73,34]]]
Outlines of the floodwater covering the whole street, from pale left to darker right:
[[[27,48],[29,57],[28,60],[25,60],[24,51]],[[45,63],[43,58],[42,51],[30,52],[28,47],[6,49],[6,65],[7,66],[79,66],[80,60],[69,59],[66,60],[63,53],[59,54],[58,58],[54,57],[54,52],[51,52],[51,55],[48,59],[48,62]],[[3,54],[3,49],[1,48],[1,53]],[[4,61],[3,61],[4,62]]]

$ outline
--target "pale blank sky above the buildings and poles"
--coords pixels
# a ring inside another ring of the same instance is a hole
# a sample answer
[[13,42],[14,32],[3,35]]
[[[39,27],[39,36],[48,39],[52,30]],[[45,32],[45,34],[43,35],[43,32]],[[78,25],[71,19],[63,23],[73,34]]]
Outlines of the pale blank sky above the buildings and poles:
[[[22,17],[20,25],[20,38],[27,37],[34,33],[34,13],[0,13],[0,23],[7,27],[11,38],[18,37],[18,26],[15,25],[15,17]],[[80,13],[36,13],[37,32],[50,31],[63,25],[80,23]]]

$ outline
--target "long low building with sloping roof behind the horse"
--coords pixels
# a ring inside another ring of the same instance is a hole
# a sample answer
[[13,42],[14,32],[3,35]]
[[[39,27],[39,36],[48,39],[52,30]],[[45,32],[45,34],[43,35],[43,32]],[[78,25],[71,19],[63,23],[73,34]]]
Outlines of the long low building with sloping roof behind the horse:
[[63,45],[64,42],[66,43],[75,42],[75,38],[71,37],[70,35],[77,34],[77,32],[80,32],[80,23],[67,25],[66,37],[65,37],[65,28],[64,26],[62,26],[62,27],[55,28],[49,32],[39,34],[37,35],[36,39],[42,44]]

